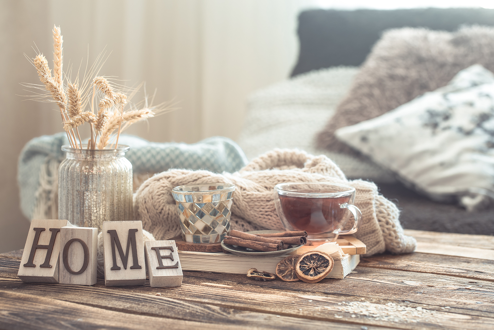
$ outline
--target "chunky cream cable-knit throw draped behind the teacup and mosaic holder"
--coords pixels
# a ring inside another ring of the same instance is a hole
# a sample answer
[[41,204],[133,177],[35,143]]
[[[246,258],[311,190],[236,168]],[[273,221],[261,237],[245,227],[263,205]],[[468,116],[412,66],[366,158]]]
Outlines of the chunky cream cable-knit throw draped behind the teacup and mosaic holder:
[[253,159],[239,172],[214,174],[208,171],[168,170],[146,180],[135,195],[135,220],[156,239],[180,235],[180,222],[171,189],[180,185],[229,183],[234,193],[231,223],[240,231],[283,230],[274,204],[274,186],[283,182],[332,182],[356,189],[355,205],[363,224],[354,234],[367,245],[367,256],[375,253],[407,253],[416,241],[403,234],[395,204],[379,195],[374,183],[348,181],[326,156],[300,150],[275,149]]

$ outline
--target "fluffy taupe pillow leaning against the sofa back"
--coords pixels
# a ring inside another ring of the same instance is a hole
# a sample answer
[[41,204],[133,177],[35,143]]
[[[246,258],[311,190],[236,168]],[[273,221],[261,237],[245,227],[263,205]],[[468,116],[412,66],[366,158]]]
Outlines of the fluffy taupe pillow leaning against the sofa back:
[[389,30],[372,48],[350,93],[318,134],[331,151],[352,153],[334,132],[382,115],[418,95],[445,86],[458,71],[479,63],[494,71],[494,28],[463,27],[457,32],[403,28]]

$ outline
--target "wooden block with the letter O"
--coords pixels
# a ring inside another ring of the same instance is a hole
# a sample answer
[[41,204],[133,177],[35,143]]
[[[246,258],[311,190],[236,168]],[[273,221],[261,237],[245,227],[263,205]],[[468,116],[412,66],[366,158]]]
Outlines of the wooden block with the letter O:
[[97,228],[62,227],[59,283],[96,284],[97,255]]

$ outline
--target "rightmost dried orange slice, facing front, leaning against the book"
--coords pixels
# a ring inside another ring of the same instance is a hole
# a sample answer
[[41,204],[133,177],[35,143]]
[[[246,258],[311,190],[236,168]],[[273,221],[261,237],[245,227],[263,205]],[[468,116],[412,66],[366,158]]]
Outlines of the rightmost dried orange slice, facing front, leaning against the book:
[[321,251],[307,251],[298,258],[295,274],[307,283],[317,283],[333,269],[334,260]]

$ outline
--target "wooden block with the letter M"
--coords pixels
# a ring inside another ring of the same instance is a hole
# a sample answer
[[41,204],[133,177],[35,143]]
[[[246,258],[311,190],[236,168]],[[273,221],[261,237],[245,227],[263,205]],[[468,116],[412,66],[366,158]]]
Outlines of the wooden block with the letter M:
[[[125,249],[125,250],[124,250]],[[103,223],[105,285],[142,285],[146,282],[141,221]]]

